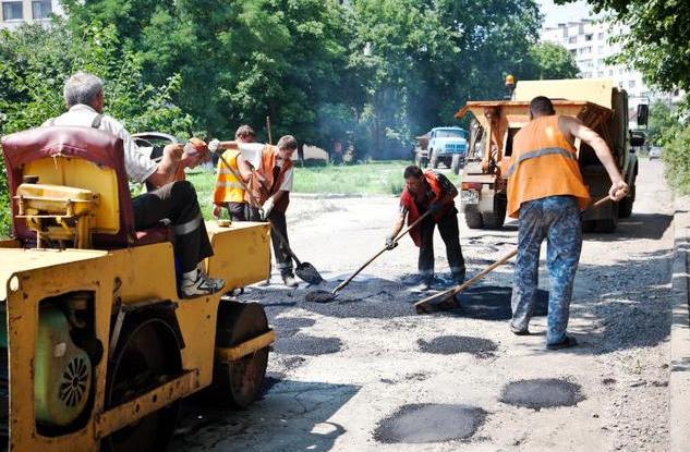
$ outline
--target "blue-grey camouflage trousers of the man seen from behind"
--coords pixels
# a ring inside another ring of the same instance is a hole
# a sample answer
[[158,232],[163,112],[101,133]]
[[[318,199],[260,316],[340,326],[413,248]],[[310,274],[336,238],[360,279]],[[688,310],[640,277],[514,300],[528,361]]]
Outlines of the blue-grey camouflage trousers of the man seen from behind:
[[544,239],[547,241],[549,282],[546,343],[556,344],[566,339],[572,283],[582,249],[580,209],[573,197],[549,196],[520,206],[511,301],[510,327],[513,331],[526,330],[532,317],[536,302],[540,248]]

